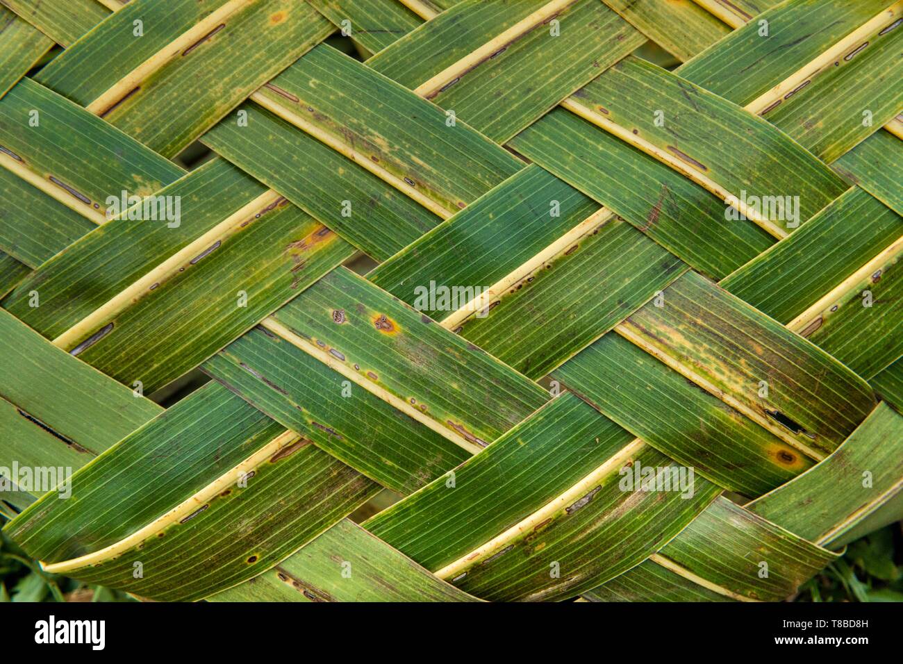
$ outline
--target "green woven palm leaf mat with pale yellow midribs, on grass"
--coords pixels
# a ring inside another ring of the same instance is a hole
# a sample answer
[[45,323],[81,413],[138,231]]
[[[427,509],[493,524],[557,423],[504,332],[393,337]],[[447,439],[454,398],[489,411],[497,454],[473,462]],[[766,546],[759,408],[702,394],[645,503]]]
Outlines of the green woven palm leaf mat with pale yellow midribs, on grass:
[[779,601],[903,516],[903,1],[0,3],[48,572]]

